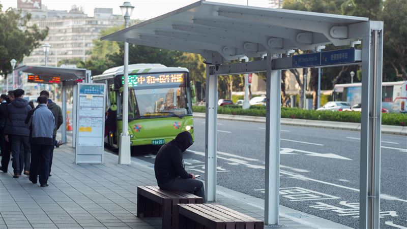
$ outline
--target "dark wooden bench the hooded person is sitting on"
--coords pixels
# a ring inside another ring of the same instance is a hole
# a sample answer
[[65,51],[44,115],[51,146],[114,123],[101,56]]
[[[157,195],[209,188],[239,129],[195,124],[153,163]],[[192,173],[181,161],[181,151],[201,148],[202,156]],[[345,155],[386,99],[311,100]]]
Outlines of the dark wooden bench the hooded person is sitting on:
[[203,199],[189,192],[163,190],[158,186],[137,187],[137,217],[162,217],[162,228],[178,228],[178,214],[173,214],[177,204],[195,203],[203,203]]

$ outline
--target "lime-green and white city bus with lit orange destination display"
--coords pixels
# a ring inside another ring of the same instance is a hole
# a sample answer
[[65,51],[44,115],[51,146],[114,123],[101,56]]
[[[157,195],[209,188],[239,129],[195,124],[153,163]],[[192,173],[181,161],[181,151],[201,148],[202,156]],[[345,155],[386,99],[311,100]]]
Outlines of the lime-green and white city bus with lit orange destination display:
[[[192,103],[196,99],[188,69],[139,63],[130,64],[128,73],[131,146],[162,145],[183,131],[194,137]],[[107,85],[105,143],[118,148],[123,120],[123,66],[93,76],[93,82]]]

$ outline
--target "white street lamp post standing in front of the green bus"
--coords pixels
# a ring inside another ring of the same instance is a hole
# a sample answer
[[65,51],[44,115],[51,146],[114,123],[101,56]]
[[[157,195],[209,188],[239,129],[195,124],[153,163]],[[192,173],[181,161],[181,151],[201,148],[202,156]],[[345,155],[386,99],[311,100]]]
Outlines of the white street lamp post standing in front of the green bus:
[[[122,15],[125,20],[125,27],[129,27],[130,16],[133,13],[134,7],[130,2],[124,2],[120,6],[122,10]],[[119,146],[119,164],[130,165],[130,136],[129,136],[129,43],[125,41],[124,43],[124,66],[123,66],[123,128],[122,134],[120,136],[120,146]]]

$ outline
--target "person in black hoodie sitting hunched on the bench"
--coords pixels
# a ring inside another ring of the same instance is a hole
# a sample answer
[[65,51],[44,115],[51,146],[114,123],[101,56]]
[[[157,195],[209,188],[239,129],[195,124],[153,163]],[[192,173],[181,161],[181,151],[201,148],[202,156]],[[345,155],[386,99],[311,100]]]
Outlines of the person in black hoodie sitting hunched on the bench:
[[163,145],[157,153],[154,162],[154,172],[158,186],[167,190],[188,191],[203,198],[205,191],[203,183],[195,179],[195,175],[185,171],[182,153],[192,145],[189,132],[181,132],[169,143]]

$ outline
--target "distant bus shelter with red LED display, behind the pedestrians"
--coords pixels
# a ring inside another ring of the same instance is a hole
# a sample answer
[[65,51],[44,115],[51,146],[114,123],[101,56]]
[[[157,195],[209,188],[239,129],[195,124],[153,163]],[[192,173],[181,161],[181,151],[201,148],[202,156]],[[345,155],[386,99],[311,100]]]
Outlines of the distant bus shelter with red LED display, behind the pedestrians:
[[[77,99],[77,84],[86,80],[89,82],[91,79],[91,71],[86,69],[71,69],[71,68],[59,68],[59,67],[47,67],[47,66],[30,66],[23,65],[15,69],[15,71],[21,71],[28,73],[27,81],[31,83],[42,83],[42,84],[59,84],[62,87],[62,114],[64,117],[64,122],[62,124],[62,142],[67,142],[67,128],[66,117],[67,111],[67,88],[72,86],[73,88],[73,103],[75,108]],[[76,109],[73,110],[72,115],[72,126],[76,127]],[[72,146],[75,147],[75,129],[73,129],[73,141]]]

